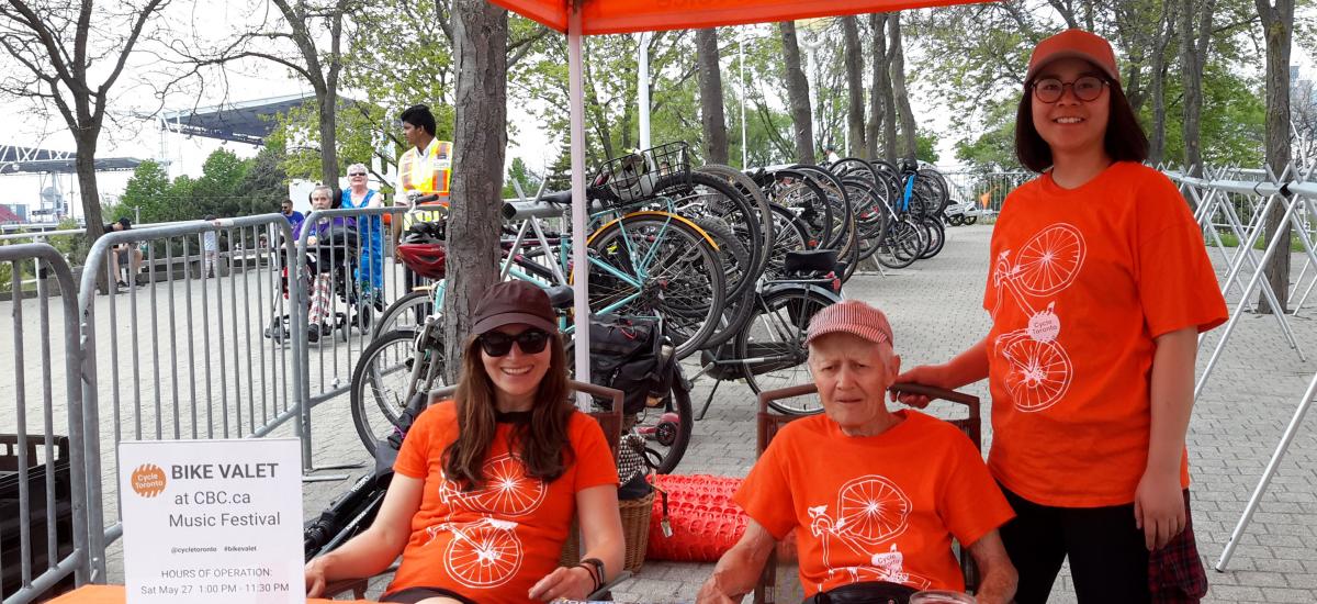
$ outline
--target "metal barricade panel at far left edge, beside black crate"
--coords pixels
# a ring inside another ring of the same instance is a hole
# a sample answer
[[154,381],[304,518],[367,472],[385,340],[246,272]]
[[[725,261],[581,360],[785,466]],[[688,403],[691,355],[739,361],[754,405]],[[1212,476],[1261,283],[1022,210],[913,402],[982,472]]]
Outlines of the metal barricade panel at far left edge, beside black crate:
[[[42,270],[58,284],[58,302],[46,280],[24,285],[24,276]],[[0,344],[0,353],[12,357],[0,371],[13,372],[13,380],[0,381],[0,400],[14,404],[12,415],[0,414],[0,597],[11,604],[49,597],[94,575],[72,273],[55,248],[20,244],[0,247],[0,277],[12,294],[13,320],[13,348]],[[51,303],[59,306],[54,313]],[[51,334],[63,338],[51,340]],[[29,414],[36,404],[40,413]]]

